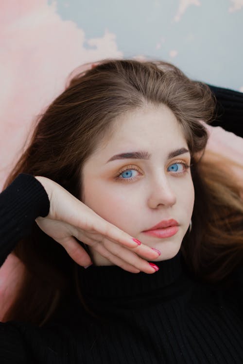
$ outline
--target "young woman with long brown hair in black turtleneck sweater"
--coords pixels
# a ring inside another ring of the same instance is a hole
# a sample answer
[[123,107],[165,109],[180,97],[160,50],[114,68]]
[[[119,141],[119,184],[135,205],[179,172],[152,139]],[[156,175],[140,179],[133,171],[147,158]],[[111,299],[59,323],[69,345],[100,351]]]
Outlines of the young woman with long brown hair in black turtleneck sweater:
[[17,237],[27,267],[5,363],[242,363],[243,202],[200,163],[213,112],[163,62],[105,61],[53,101],[3,192],[1,261]]

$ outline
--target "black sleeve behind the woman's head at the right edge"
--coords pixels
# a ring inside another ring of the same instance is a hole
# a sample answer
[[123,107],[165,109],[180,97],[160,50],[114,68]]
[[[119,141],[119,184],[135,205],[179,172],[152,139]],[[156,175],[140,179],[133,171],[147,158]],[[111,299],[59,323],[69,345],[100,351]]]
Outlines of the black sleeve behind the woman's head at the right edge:
[[211,126],[243,137],[243,93],[208,84],[216,98],[215,119]]

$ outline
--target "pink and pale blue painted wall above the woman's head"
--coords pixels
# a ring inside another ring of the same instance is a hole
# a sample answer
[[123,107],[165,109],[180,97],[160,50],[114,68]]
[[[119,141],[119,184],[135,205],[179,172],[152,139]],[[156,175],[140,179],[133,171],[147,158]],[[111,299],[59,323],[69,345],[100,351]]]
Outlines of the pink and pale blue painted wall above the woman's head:
[[243,92],[243,0],[1,0],[0,189],[77,66],[159,58]]

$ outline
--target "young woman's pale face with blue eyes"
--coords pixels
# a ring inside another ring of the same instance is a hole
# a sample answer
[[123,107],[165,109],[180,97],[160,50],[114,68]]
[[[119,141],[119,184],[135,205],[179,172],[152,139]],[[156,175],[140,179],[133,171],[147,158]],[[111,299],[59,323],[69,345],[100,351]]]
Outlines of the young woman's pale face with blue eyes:
[[[184,165],[190,165],[190,153],[182,129],[164,105],[150,105],[116,121],[112,137],[83,166],[82,201],[124,232],[160,250],[157,261],[173,258],[194,204],[190,168]],[[134,152],[137,158],[129,155]],[[169,219],[178,222],[173,236],[144,233]],[[97,265],[110,264],[96,252],[93,260]]]

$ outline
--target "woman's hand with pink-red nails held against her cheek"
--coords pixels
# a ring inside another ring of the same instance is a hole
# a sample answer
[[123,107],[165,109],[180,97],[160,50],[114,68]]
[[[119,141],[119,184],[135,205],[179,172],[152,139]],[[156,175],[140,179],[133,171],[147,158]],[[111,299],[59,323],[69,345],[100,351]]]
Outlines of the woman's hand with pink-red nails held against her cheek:
[[146,260],[155,260],[158,253],[152,248],[138,245],[132,237],[96,214],[58,183],[42,176],[35,178],[45,188],[50,211],[46,217],[35,219],[39,228],[61,244],[79,265],[92,264],[86,250],[75,238],[92,247],[111,263],[138,273],[156,270]]

